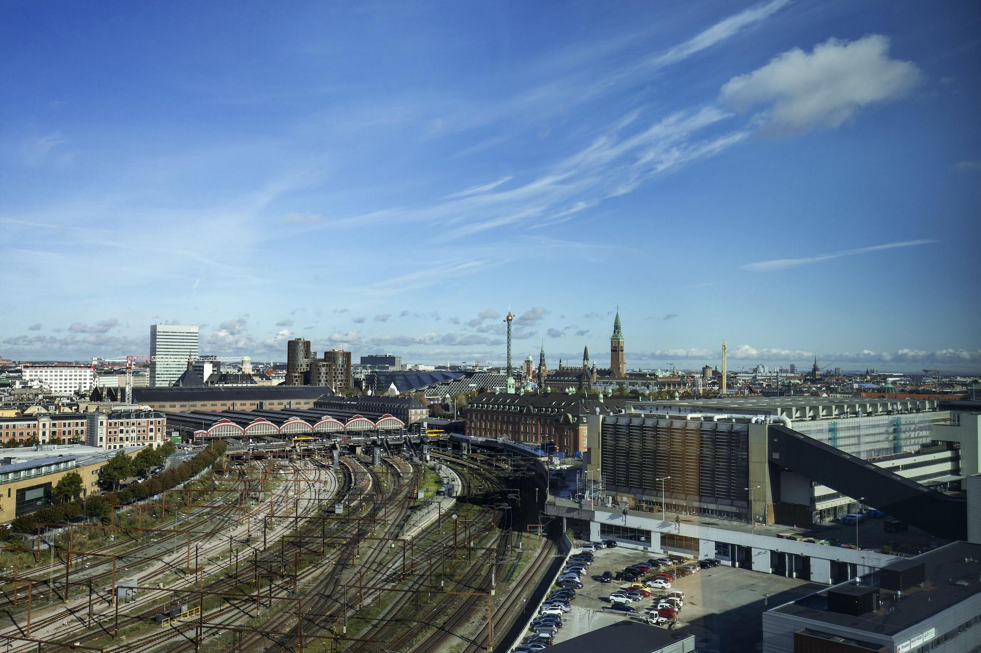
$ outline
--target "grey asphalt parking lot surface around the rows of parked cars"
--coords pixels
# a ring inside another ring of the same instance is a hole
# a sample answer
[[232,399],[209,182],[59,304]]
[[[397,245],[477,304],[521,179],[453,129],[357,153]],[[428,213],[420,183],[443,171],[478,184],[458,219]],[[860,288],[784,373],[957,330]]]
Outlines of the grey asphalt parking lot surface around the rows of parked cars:
[[[638,611],[636,616],[604,611],[603,608],[610,605],[606,597],[630,583],[616,580],[603,583],[592,577],[606,571],[616,574],[624,567],[645,562],[647,558],[659,558],[660,555],[616,547],[595,551],[594,556],[595,562],[583,578],[583,588],[576,592],[572,609],[562,617],[562,628],[554,639],[556,643],[623,619],[640,620],[653,604],[653,598],[631,603]],[[720,653],[752,651],[762,637],[761,615],[764,610],[823,586],[732,567],[701,570],[694,576],[676,578],[672,583],[672,589],[685,592],[685,604],[675,628],[696,635],[700,650]],[[652,590],[652,593],[656,596],[666,591]]]

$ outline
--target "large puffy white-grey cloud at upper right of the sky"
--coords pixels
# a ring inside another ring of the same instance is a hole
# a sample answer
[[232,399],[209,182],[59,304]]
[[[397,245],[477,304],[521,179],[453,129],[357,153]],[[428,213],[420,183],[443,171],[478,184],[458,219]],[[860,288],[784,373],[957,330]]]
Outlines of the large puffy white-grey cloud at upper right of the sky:
[[837,127],[868,105],[903,97],[920,81],[919,69],[889,56],[889,37],[830,38],[809,54],[794,48],[766,66],[726,82],[723,104],[740,112],[765,105],[766,129],[801,133]]

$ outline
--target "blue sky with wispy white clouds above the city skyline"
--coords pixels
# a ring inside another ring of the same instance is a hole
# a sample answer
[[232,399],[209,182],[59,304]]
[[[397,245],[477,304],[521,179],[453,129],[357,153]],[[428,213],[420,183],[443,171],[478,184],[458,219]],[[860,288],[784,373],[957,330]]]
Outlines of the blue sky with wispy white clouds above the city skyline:
[[0,356],[981,369],[976,3],[4,3]]

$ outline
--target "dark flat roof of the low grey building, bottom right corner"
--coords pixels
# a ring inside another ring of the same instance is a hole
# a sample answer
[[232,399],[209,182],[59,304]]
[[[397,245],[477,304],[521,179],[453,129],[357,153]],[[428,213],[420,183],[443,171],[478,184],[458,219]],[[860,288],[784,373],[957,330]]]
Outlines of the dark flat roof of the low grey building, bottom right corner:
[[[828,610],[828,591],[855,582],[842,583],[773,609],[785,615],[878,634],[895,635],[929,619],[981,592],[981,544],[953,542],[939,549],[887,565],[883,570],[904,570],[922,563],[926,579],[923,586],[913,585],[897,592],[880,587],[880,605],[864,615],[843,615]],[[862,586],[879,586],[880,574],[859,578]]]

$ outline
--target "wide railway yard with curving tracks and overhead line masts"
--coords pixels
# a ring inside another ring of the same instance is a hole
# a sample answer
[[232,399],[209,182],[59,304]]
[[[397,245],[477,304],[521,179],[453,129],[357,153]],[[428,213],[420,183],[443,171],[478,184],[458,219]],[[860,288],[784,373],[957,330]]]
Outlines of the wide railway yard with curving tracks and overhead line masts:
[[108,523],[9,539],[0,643],[508,650],[560,561],[529,499],[541,477],[514,459],[449,449],[426,463],[411,447],[331,453],[227,452]]

